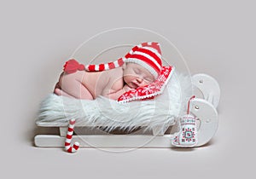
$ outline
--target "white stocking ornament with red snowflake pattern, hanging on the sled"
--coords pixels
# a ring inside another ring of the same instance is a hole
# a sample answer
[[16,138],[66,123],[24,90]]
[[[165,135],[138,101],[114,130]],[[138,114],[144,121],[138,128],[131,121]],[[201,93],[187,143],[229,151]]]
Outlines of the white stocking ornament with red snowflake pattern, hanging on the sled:
[[180,124],[180,131],[172,136],[172,145],[176,147],[195,147],[198,141],[195,117],[187,114],[183,116]]

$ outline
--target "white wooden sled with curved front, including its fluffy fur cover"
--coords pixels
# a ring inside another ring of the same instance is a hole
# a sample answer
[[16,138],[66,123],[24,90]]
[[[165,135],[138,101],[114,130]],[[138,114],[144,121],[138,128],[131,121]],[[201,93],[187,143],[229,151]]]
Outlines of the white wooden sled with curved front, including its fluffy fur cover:
[[218,82],[203,73],[190,78],[176,72],[164,93],[151,101],[119,104],[102,97],[82,101],[48,95],[36,124],[43,129],[58,128],[59,134],[38,134],[34,137],[35,146],[64,147],[68,120],[75,118],[73,141],[79,141],[80,147],[174,147],[171,137],[178,130],[177,118],[185,113],[189,97],[199,91],[201,97],[196,95],[189,108],[197,118],[195,147],[203,146],[218,129]]

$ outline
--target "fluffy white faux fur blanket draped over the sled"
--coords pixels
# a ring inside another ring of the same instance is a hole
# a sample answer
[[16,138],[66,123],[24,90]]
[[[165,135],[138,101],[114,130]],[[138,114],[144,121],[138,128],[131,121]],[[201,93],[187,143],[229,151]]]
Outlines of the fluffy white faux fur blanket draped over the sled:
[[54,123],[63,126],[75,118],[76,125],[106,126],[107,131],[117,128],[129,131],[140,126],[146,126],[145,130],[160,127],[165,131],[186,112],[191,95],[189,75],[174,72],[163,94],[154,100],[120,104],[102,96],[89,101],[49,94],[41,103],[36,122],[39,125]]

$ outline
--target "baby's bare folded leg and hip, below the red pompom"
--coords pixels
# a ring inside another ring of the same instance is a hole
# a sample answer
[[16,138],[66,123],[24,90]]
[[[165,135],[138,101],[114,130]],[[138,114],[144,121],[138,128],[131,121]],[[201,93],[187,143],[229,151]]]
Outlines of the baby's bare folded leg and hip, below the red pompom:
[[81,83],[83,76],[84,72],[81,71],[71,74],[61,74],[59,79],[59,86],[61,86],[61,89],[56,88],[55,94],[84,100],[93,100],[90,91]]

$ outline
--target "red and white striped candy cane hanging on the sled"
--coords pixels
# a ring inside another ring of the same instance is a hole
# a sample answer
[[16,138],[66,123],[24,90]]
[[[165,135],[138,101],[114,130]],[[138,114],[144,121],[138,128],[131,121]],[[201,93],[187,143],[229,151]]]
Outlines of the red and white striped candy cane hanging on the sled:
[[76,120],[71,119],[69,120],[68,129],[67,129],[67,136],[65,141],[65,148],[68,153],[75,153],[79,150],[79,142],[75,142],[73,145],[71,145],[71,141],[73,138],[73,127]]

